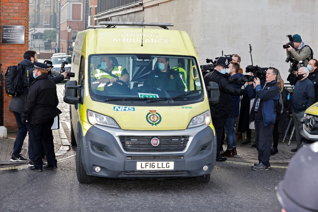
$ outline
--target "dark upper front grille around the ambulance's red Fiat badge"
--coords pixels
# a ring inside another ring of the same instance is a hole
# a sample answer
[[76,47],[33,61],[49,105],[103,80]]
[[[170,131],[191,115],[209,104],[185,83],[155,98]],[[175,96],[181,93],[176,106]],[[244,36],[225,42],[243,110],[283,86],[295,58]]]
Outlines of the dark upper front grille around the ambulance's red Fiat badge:
[[151,145],[150,136],[119,136],[122,147],[127,152],[181,152],[187,146],[189,136],[157,136],[159,145]]

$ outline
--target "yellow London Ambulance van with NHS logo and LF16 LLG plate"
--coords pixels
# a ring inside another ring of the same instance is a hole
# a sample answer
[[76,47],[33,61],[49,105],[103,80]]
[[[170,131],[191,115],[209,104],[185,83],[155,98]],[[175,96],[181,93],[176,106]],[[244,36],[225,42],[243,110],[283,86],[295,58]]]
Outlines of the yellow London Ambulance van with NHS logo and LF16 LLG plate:
[[208,182],[216,137],[189,35],[171,23],[100,22],[77,34],[66,82],[80,183],[94,177]]

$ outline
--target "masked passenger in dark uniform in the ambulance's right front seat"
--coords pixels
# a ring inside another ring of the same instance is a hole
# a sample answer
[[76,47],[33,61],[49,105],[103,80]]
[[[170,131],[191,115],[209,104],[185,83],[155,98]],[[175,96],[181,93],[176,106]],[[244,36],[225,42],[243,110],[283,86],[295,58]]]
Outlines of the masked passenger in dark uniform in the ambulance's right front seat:
[[158,58],[157,66],[149,73],[145,85],[169,90],[185,90],[185,83],[180,73],[170,69],[169,58]]

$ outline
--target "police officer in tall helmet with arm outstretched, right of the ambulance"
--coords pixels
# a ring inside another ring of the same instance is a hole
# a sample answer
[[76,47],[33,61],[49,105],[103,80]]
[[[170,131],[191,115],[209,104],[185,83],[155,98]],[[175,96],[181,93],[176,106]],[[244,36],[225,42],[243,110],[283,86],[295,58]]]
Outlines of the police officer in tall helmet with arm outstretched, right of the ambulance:
[[229,64],[231,61],[231,58],[219,57],[214,71],[205,74],[203,78],[206,86],[209,85],[209,82],[215,82],[219,85],[220,90],[218,104],[210,105],[211,119],[217,136],[217,161],[226,161],[226,158],[220,156],[220,149],[225,120],[231,114],[230,95],[247,94],[245,89],[237,89],[226,80],[225,73],[230,72]]

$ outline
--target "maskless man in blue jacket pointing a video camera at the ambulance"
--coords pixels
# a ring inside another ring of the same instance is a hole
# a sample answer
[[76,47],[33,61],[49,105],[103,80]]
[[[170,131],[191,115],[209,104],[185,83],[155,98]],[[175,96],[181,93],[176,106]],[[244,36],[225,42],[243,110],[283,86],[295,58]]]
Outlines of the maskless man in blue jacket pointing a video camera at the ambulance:
[[259,163],[252,166],[253,170],[268,170],[269,157],[273,141],[273,126],[276,119],[275,105],[280,98],[280,89],[276,85],[278,70],[270,67],[266,73],[266,81],[260,82],[254,78],[254,83],[247,86],[248,96],[253,102],[250,122],[255,123],[255,144],[258,151]]

